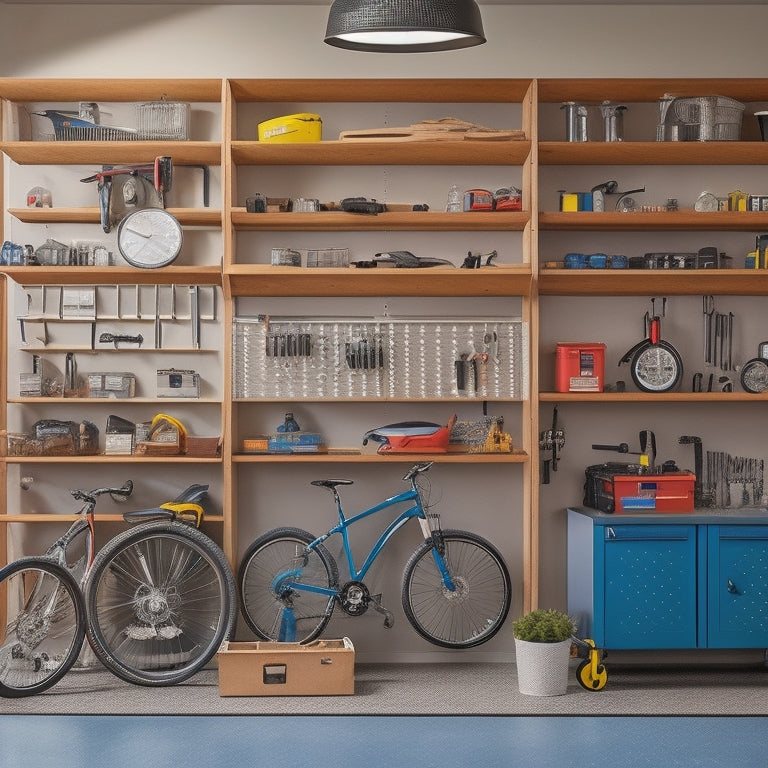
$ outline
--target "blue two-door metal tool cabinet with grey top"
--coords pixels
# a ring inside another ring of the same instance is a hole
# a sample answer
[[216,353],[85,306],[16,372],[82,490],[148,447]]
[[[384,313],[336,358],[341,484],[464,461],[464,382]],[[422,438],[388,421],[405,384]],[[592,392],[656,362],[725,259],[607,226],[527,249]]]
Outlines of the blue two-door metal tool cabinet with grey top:
[[600,648],[768,648],[768,511],[568,512],[568,612]]

